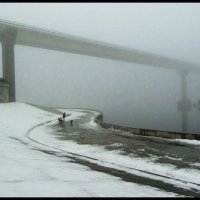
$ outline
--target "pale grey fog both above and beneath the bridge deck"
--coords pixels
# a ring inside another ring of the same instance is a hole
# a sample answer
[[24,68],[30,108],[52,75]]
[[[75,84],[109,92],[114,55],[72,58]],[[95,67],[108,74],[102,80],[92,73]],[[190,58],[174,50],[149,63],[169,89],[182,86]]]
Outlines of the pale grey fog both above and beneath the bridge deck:
[[[1,3],[0,18],[200,64],[198,3]],[[176,70],[20,45],[15,70],[19,102],[96,109],[114,124],[181,131]],[[199,74],[189,73],[187,83],[188,131],[200,133]]]

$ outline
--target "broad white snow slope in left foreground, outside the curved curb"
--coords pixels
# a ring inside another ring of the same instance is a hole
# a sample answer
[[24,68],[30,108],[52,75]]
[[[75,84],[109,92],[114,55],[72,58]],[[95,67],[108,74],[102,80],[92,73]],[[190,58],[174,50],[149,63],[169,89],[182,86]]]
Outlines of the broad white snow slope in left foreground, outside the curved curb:
[[[81,113],[72,113],[70,118],[80,115]],[[66,157],[43,152],[44,149],[56,152],[56,149],[34,143],[27,137],[27,133],[31,130],[37,139],[51,142],[48,145],[52,145],[52,142],[56,144],[57,140],[50,138],[48,128],[34,127],[48,121],[55,123],[57,118],[56,114],[23,103],[0,104],[1,197],[176,196],[156,188],[125,182],[118,177],[71,163]],[[71,143],[70,147],[76,149],[78,146]],[[92,148],[95,151],[96,147]],[[80,149],[91,153],[92,148],[90,147],[90,152],[87,147]]]

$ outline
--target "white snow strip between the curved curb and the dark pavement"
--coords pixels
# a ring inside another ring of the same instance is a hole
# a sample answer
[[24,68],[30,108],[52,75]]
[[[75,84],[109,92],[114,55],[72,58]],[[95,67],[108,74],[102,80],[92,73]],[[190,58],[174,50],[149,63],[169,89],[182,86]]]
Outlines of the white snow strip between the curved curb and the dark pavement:
[[[69,110],[60,109],[60,111],[68,112]],[[81,116],[81,113],[79,115]],[[55,122],[50,124],[53,125]],[[87,127],[88,129],[99,128],[99,126],[94,122],[94,118],[92,118],[92,120],[88,123],[81,124],[81,126]],[[107,151],[105,148],[96,145],[79,145],[74,141],[63,142],[62,140],[56,140],[56,137],[56,134],[48,127],[48,125],[38,127],[32,131],[32,138],[36,138],[40,141],[40,144],[46,144],[48,147],[60,152],[60,154],[76,154],[77,156],[85,157],[84,159],[101,166],[123,170],[130,174],[137,174],[142,177],[160,180],[179,188],[193,188],[195,190],[200,190],[199,170],[188,170],[184,168],[178,169],[174,165],[156,164],[154,162],[154,159],[156,160],[156,156],[150,159],[138,157],[134,158],[134,156],[129,157],[121,155],[118,151]],[[178,141],[182,143],[190,143],[190,140]],[[200,147],[200,141],[193,141],[193,144],[199,145]],[[198,163],[194,163],[194,166],[195,165],[197,166]]]

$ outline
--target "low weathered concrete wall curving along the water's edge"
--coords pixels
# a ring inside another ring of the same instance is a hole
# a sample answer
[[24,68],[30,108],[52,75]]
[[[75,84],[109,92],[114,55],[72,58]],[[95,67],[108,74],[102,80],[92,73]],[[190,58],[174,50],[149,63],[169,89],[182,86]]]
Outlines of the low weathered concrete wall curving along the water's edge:
[[200,140],[200,133],[184,133],[184,132],[171,132],[171,131],[160,131],[160,130],[151,130],[143,128],[132,128],[126,126],[119,126],[116,124],[109,124],[103,122],[103,115],[99,114],[95,118],[95,122],[102,126],[103,128],[111,128],[119,131],[125,131],[136,135],[143,136],[154,136],[154,137],[163,137],[171,139],[190,139],[190,140]]

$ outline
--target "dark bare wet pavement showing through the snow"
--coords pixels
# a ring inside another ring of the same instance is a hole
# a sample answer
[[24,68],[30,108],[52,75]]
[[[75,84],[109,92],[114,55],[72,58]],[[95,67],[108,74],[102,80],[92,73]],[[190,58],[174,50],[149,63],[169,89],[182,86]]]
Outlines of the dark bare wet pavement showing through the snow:
[[[43,109],[54,112],[56,114],[62,114],[62,112],[54,110],[53,108]],[[181,144],[179,142],[175,142],[174,140],[170,141],[162,138],[126,134],[125,132],[104,129],[100,126],[97,129],[90,129],[87,126],[83,126],[83,124],[90,122],[94,118],[95,114],[93,111],[90,110],[85,110],[83,112],[85,113],[85,115],[80,119],[75,119],[73,121],[73,126],[70,125],[70,122],[67,121],[67,118],[64,125],[59,125],[58,123],[54,125],[49,125],[54,130],[57,139],[73,140],[80,145],[99,145],[105,147],[108,151],[120,150],[122,155],[127,155],[130,157],[134,156],[134,158],[139,157],[151,159],[152,157],[157,157],[154,162],[158,164],[170,164],[180,169],[184,168],[190,170],[192,168],[200,170],[199,165],[193,165],[194,163],[200,163],[199,146],[191,144]],[[115,143],[118,143],[120,145],[112,145]],[[53,152],[48,153],[53,154]],[[200,190],[198,189],[189,187],[180,188],[176,187],[174,184],[171,184],[170,181],[167,183],[156,178],[147,178],[137,174],[131,174],[123,170],[100,166],[96,163],[88,161],[87,159],[84,159],[84,156],[77,157],[71,154],[71,156],[68,155],[67,157],[70,157],[71,162],[88,166],[92,170],[101,171],[111,174],[113,176],[120,177],[124,181],[156,187],[158,189],[166,190],[168,192],[177,193],[180,196],[200,196]],[[136,170],[143,172],[139,169]],[[169,178],[167,175],[158,175],[150,172],[146,173]],[[181,181],[176,179],[175,177],[173,179],[180,182],[185,182],[185,184],[191,183],[190,180]],[[196,186],[200,188],[200,185],[196,184]]]

